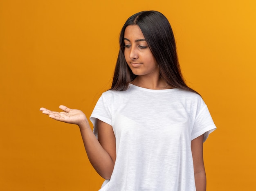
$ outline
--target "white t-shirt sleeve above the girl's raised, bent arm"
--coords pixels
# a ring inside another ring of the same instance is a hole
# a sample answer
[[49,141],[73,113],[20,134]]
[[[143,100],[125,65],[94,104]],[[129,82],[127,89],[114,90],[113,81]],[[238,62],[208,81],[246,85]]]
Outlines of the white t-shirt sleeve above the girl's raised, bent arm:
[[112,125],[111,120],[111,108],[109,104],[111,103],[110,100],[106,99],[104,93],[101,95],[99,100],[97,101],[94,110],[90,116],[90,121],[93,124],[93,132],[96,137],[98,137],[98,130],[97,130],[97,119]]

